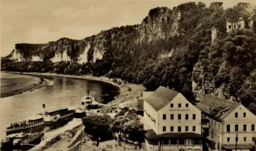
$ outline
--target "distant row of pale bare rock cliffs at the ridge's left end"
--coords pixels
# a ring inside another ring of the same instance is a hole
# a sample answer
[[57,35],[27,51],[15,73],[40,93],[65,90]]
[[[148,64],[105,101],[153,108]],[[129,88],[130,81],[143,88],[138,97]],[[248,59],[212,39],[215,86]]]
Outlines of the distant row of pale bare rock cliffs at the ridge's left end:
[[[28,43],[16,44],[10,55],[5,58],[13,61],[70,61],[80,64],[102,59],[104,39],[73,40],[61,38],[57,41],[37,45]],[[90,52],[91,51],[91,52]],[[89,53],[92,53],[88,58]]]

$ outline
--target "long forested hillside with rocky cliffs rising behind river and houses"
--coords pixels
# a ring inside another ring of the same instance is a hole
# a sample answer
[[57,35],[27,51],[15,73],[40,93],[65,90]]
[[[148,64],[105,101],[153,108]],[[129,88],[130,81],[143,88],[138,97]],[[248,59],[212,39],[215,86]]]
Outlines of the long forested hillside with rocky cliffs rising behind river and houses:
[[[140,24],[112,28],[82,40],[16,44],[2,58],[2,70],[107,74],[143,84],[148,90],[169,86],[189,100],[211,93],[249,106],[256,103],[255,32],[248,28],[226,33],[226,21],[236,23],[235,16],[246,13],[218,7],[192,2],[173,9],[158,7]],[[242,15],[249,16],[255,18]],[[218,33],[214,43],[212,29]]]

